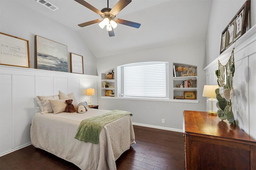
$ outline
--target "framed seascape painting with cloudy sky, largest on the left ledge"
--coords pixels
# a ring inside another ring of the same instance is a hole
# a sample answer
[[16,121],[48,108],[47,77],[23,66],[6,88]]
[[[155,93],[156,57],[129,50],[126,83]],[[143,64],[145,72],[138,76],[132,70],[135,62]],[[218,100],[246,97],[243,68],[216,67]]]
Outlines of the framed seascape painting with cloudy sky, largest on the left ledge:
[[36,35],[38,69],[68,72],[68,47]]

